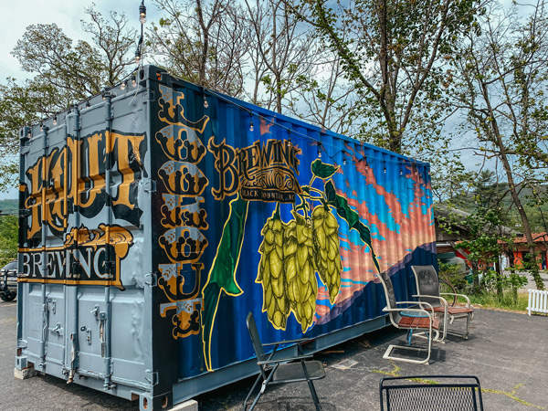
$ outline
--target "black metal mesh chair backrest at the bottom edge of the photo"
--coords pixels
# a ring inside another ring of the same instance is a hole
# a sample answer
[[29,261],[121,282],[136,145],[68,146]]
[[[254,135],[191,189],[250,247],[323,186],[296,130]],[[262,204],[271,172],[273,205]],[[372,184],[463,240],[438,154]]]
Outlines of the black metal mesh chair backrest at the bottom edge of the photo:
[[[421,384],[420,380],[424,380],[424,383]],[[435,380],[437,384],[431,384],[427,380]],[[479,379],[472,375],[383,378],[379,389],[381,411],[483,410]]]

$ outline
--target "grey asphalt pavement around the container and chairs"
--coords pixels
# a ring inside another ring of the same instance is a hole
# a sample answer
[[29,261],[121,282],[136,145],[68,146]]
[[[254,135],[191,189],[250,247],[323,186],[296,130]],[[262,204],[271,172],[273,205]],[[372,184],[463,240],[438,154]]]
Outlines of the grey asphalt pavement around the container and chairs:
[[[315,383],[326,411],[378,410],[379,380],[389,375],[469,374],[479,377],[486,411],[548,410],[548,316],[477,310],[469,340],[435,343],[430,364],[383,360],[405,333],[367,333],[321,353],[327,376]],[[0,408],[3,410],[137,410],[130,402],[58,378],[14,378],[16,303],[0,303]],[[252,378],[195,398],[200,410],[238,410]],[[258,411],[314,410],[305,383],[269,387]]]

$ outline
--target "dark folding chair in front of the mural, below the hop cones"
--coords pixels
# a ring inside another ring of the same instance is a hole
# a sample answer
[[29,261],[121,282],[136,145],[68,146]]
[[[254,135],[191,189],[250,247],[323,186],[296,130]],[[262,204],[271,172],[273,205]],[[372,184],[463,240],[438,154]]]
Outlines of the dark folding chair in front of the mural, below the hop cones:
[[[258,399],[267,389],[269,384],[284,384],[284,383],[298,383],[306,381],[311,390],[312,400],[316,406],[316,410],[321,410],[320,400],[316,394],[316,389],[312,380],[319,380],[325,377],[325,370],[323,364],[320,361],[306,361],[312,358],[312,355],[305,355],[302,351],[302,343],[307,342],[308,339],[300,340],[287,340],[282,342],[270,342],[263,344],[260,342],[260,337],[258,336],[257,325],[255,324],[255,319],[251,312],[248,313],[248,332],[251,337],[251,342],[253,343],[253,349],[257,355],[257,364],[260,369],[260,374],[255,381],[255,384],[249,390],[249,394],[244,401],[244,411],[248,408],[249,397],[255,391],[258,383],[262,380],[262,385],[260,391],[258,392],[257,397],[251,404],[249,410],[252,410],[258,403]],[[297,343],[298,355],[287,358],[274,358],[274,354],[280,344],[285,343]],[[265,346],[274,345],[274,350],[268,355],[264,351]]]

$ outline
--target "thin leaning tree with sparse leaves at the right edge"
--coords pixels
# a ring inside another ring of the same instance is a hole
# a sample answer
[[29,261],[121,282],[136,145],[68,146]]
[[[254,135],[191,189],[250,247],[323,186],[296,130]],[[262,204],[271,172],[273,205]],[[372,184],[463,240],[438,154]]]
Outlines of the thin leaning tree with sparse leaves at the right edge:
[[[517,210],[531,256],[532,229],[519,192],[535,189],[548,178],[548,20],[544,0],[532,6],[524,20],[523,8],[508,14],[491,8],[481,32],[471,32],[456,62],[458,109],[466,114],[476,134],[478,152],[501,163],[511,201]],[[534,258],[527,264],[537,288],[543,281]]]

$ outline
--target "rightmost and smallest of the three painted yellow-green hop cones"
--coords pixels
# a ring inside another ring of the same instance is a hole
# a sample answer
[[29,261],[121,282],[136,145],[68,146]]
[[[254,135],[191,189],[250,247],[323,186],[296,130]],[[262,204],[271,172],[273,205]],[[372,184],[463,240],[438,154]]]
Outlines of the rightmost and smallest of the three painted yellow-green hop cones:
[[329,291],[329,300],[333,303],[341,289],[339,223],[332,212],[322,205],[312,211],[312,238],[316,269]]

